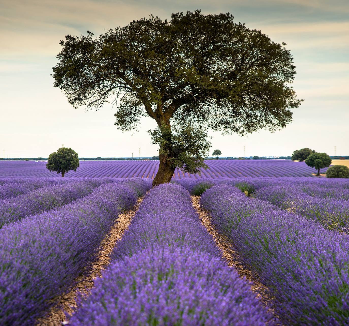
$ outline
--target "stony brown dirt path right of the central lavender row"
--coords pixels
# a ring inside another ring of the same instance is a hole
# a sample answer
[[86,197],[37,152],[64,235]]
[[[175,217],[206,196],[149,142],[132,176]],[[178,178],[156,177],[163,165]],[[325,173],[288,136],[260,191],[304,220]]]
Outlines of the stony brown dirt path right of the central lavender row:
[[275,317],[274,323],[280,324],[279,316],[276,315],[275,311],[270,308],[273,306],[274,297],[269,293],[268,288],[263,285],[256,273],[252,272],[248,266],[241,263],[239,254],[234,251],[231,241],[227,237],[224,237],[211,224],[211,217],[209,212],[200,206],[200,196],[191,196],[194,208],[199,214],[200,221],[206,230],[213,237],[217,247],[221,249],[224,259],[227,261],[228,266],[234,267],[241,278],[246,277],[248,281],[252,281],[251,290],[256,294],[256,297],[260,299],[264,307],[268,307],[268,311]]

